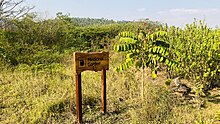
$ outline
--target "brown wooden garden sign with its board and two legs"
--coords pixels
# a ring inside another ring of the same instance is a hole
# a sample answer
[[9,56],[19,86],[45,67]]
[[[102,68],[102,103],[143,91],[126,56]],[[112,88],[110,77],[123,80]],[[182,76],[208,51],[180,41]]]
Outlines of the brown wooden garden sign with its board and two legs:
[[74,52],[74,73],[76,75],[76,116],[82,123],[82,85],[81,72],[102,71],[102,112],[106,112],[106,70],[109,69],[109,52]]

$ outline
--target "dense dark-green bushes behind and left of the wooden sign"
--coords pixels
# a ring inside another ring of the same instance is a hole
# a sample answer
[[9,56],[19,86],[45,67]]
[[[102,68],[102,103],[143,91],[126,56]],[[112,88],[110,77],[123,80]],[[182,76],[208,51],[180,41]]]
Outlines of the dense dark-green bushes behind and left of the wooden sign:
[[[115,35],[125,29],[136,30],[138,25],[134,22],[80,26],[62,13],[48,20],[38,19],[35,13],[30,13],[12,22],[7,29],[1,30],[0,43],[5,51],[1,53],[7,52],[17,63],[29,66],[59,63],[72,51],[110,49]],[[10,63],[8,60],[5,62]]]

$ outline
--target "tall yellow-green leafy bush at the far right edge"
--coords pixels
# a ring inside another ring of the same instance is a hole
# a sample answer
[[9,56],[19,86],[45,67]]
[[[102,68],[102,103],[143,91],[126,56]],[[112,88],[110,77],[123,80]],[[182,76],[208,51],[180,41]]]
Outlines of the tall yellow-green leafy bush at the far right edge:
[[185,29],[164,26],[170,44],[169,58],[180,66],[168,69],[172,75],[182,76],[197,89],[220,79],[220,32],[208,28],[204,22],[186,25]]

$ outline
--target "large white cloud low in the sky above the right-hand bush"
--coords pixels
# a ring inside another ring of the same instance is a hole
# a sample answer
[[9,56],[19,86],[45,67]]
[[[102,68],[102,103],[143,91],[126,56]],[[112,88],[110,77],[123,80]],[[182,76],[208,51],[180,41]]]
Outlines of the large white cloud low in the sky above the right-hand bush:
[[219,26],[220,8],[173,8],[156,12],[152,16],[155,20],[169,25],[184,27],[185,24],[192,23],[194,19],[205,20],[208,26],[214,28]]

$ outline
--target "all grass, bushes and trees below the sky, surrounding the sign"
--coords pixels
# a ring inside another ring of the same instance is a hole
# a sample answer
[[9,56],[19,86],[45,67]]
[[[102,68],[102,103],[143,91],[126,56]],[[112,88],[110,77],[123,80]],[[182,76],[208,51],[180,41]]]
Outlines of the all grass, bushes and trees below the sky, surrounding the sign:
[[219,123],[219,89],[183,98],[172,92],[171,81],[182,76],[199,94],[219,80],[219,29],[62,13],[55,19],[29,13],[8,21],[0,29],[0,123],[75,123],[75,51],[110,51],[108,112],[100,111],[100,74],[83,72],[84,122]]

